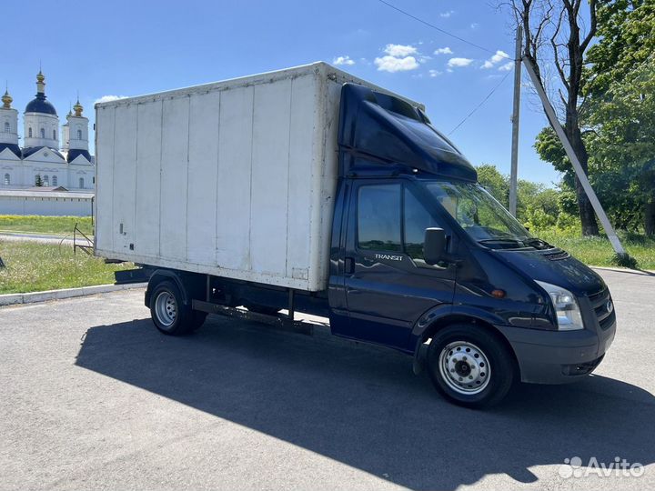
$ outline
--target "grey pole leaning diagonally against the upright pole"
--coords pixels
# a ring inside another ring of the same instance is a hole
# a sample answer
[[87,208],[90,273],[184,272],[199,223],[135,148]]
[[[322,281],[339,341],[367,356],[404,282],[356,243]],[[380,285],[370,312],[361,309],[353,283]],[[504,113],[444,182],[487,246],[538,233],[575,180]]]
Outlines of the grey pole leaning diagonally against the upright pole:
[[569,138],[567,138],[567,135],[564,133],[564,128],[562,128],[559,124],[559,119],[557,118],[557,115],[555,115],[555,109],[553,109],[553,106],[550,105],[550,101],[546,96],[546,92],[539,82],[539,77],[535,72],[534,66],[532,66],[532,62],[529,60],[529,58],[526,57],[523,58],[523,63],[525,63],[526,70],[528,70],[528,75],[532,81],[532,85],[534,85],[535,89],[537,90],[537,94],[541,99],[541,104],[544,107],[544,111],[546,111],[550,125],[552,126],[553,130],[555,130],[555,133],[559,137],[559,141],[564,146],[564,150],[566,151],[571,164],[573,164],[573,170],[575,170],[576,175],[578,175],[579,182],[587,194],[587,197],[589,197],[589,201],[591,202],[596,215],[598,215],[600,224],[605,229],[605,233],[608,235],[612,247],[614,247],[614,252],[620,255],[626,254],[625,249],[623,249],[623,246],[621,246],[619,235],[616,234],[614,227],[610,224],[610,219],[607,215],[605,215],[605,210],[603,210],[602,205],[600,205],[598,196],[594,192],[593,187],[591,187],[589,184],[587,175],[582,170],[582,165],[579,163],[578,155],[576,155],[575,151],[573,150],[573,146],[571,146],[569,142]]

